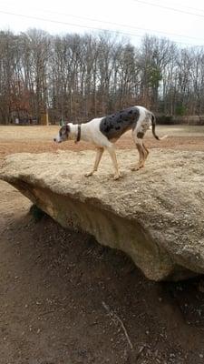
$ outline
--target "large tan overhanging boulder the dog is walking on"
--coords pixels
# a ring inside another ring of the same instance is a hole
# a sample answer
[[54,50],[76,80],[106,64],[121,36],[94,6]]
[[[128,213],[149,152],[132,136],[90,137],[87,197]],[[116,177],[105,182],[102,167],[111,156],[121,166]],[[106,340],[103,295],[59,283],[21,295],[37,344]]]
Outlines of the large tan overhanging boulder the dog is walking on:
[[[112,179],[106,154],[93,177],[95,153],[19,153],[6,157],[0,178],[63,227],[83,229],[127,253],[153,280],[204,273],[204,155],[151,150],[131,172],[135,150],[117,151],[122,177]],[[77,247],[76,247],[77,248]]]

